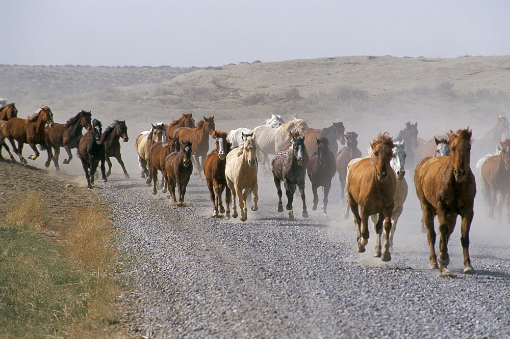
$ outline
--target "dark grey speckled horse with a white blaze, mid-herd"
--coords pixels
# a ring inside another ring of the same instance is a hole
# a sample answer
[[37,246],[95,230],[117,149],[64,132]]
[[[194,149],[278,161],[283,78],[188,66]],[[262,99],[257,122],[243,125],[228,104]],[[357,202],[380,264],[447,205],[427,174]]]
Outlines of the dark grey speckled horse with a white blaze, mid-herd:
[[271,161],[271,170],[273,173],[274,185],[278,194],[278,212],[283,212],[282,204],[282,184],[284,182],[285,193],[287,195],[287,211],[289,219],[294,220],[294,211],[292,202],[296,185],[299,187],[301,200],[303,201],[303,218],[308,218],[307,203],[304,195],[304,177],[307,168],[304,164],[304,138],[302,136],[293,137],[291,140],[292,148],[290,150],[281,150],[276,152]]

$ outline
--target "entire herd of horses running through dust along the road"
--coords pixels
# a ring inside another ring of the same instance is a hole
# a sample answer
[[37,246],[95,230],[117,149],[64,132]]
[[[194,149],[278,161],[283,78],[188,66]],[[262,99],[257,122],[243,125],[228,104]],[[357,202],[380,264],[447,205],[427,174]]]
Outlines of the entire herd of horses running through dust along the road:
[[[111,174],[110,157],[118,160],[125,177],[129,178],[120,155],[120,142],[129,139],[125,121],[115,120],[102,130],[101,123],[91,117],[90,111],[82,110],[65,124],[53,121],[53,113],[41,106],[27,119],[17,118],[14,104],[0,107],[0,146],[15,161],[6,144],[9,139],[21,164],[23,144],[29,144],[39,156],[37,146],[46,150],[48,167],[53,160],[59,170],[60,148],[68,155],[63,163],[72,159],[71,150],[78,148],[78,156],[87,178],[93,187],[97,166],[102,180]],[[85,128],[87,132],[82,135]],[[504,136],[504,139],[502,139]],[[489,132],[473,143],[472,131],[459,129],[430,140],[418,137],[418,124],[405,123],[395,138],[388,132],[379,133],[370,143],[369,154],[362,156],[358,149],[358,133],[345,132],[343,123],[333,123],[322,129],[309,128],[302,119],[293,118],[285,123],[283,118],[272,115],[265,125],[253,129],[238,128],[229,133],[216,130],[214,116],[203,117],[195,123],[191,113],[169,124],[151,124],[149,130],[140,133],[135,142],[141,177],[152,186],[168,191],[168,198],[177,206],[184,205],[186,187],[196,168],[195,175],[205,176],[213,217],[223,213],[227,218],[248,219],[247,199],[252,195],[252,211],[258,210],[258,176],[269,166],[278,196],[278,212],[283,212],[281,183],[287,196],[286,210],[294,219],[293,200],[297,191],[302,200],[302,217],[309,216],[305,201],[305,177],[312,185],[313,210],[318,205],[318,187],[323,187],[322,210],[327,215],[328,193],[331,180],[338,173],[341,199],[353,214],[357,230],[356,249],[364,252],[369,239],[369,218],[376,233],[375,257],[391,260],[393,235],[403,203],[407,196],[405,168],[414,168],[416,193],[421,204],[422,227],[427,232],[430,247],[430,268],[449,274],[448,241],[457,216],[461,216],[461,244],[464,256],[464,272],[474,273],[469,257],[469,230],[473,219],[476,194],[475,174],[471,171],[471,158],[476,162],[476,181],[482,187],[489,215],[501,222],[501,211],[506,206],[507,222],[510,222],[510,124],[505,117],[498,117]],[[209,137],[216,147],[209,154]],[[17,142],[17,145],[16,143]],[[345,145],[338,149],[338,142]],[[473,147],[473,150],[472,150]],[[496,154],[487,154],[496,148]],[[274,155],[269,165],[269,155]],[[3,159],[1,148],[0,158]],[[109,165],[106,172],[105,162]],[[161,182],[158,184],[158,173]],[[407,176],[409,177],[409,175]],[[177,196],[175,195],[177,189]],[[224,192],[225,206],[222,203]],[[498,202],[499,199],[499,202]],[[232,207],[232,211],[231,211]],[[439,258],[436,255],[436,231],[433,219],[439,221]],[[384,233],[383,233],[384,231]],[[384,234],[384,240],[381,237]],[[381,245],[381,242],[383,244]]]

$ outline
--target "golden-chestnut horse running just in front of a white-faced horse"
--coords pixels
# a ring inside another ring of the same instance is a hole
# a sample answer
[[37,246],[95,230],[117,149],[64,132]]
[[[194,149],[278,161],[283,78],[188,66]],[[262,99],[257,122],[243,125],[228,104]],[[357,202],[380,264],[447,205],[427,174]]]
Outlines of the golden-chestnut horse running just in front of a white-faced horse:
[[[380,238],[382,221],[384,220],[384,251],[381,253],[380,242],[377,242],[375,257],[382,261],[390,261],[390,232],[392,227],[395,195],[395,172],[390,165],[393,157],[393,141],[388,133],[379,133],[370,143],[373,156],[370,158],[351,160],[347,166],[347,203],[354,215],[354,224],[358,230],[356,242],[358,252],[364,252],[370,236],[368,218],[378,214],[375,232]],[[358,206],[360,210],[358,211]],[[363,224],[363,229],[361,228]]]

